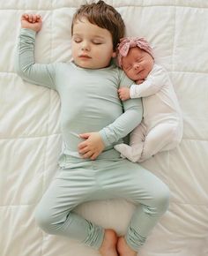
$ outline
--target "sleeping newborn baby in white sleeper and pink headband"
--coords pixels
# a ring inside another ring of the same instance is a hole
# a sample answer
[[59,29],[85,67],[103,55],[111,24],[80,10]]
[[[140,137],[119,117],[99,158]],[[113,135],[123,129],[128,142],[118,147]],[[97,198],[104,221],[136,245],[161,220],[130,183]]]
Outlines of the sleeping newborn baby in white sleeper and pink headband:
[[122,101],[143,100],[144,117],[130,133],[130,146],[115,149],[131,162],[176,147],[182,140],[182,112],[166,70],[154,63],[152,48],[144,38],[123,38],[118,45],[118,64],[137,85],[118,90]]

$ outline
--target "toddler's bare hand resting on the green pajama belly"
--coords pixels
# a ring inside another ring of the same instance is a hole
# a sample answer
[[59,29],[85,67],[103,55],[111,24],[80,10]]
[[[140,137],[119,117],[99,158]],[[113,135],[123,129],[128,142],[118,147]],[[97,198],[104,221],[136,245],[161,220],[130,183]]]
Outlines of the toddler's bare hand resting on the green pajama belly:
[[83,158],[95,160],[105,148],[99,132],[83,133],[79,136],[85,141],[78,144],[78,153],[82,154]]

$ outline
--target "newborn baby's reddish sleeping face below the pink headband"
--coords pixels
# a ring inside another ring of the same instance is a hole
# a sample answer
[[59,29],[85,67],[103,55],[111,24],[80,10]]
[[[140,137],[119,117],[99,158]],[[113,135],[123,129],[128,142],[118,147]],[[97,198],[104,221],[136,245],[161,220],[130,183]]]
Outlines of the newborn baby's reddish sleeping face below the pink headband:
[[152,56],[138,47],[131,48],[128,55],[122,58],[123,71],[132,80],[146,79],[153,64]]

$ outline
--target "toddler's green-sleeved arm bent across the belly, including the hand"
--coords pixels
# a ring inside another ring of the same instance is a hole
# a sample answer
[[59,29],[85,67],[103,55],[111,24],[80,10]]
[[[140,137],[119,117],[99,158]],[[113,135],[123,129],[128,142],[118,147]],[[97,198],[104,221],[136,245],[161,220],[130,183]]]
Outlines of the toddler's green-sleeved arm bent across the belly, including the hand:
[[[131,85],[132,80],[128,79],[123,72],[122,85]],[[87,132],[79,134],[85,141],[78,145],[78,152],[84,158],[94,160],[105,147],[113,147],[115,143],[130,133],[137,124],[140,124],[143,116],[141,99],[131,99],[123,102],[124,113],[116,118],[115,122],[100,130],[100,132]]]

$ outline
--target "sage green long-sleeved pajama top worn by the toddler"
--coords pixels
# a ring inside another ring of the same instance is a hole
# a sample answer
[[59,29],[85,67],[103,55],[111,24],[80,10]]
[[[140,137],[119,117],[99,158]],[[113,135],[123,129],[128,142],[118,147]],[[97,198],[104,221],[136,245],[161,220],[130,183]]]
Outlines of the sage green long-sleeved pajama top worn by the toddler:
[[[55,89],[60,95],[63,135],[60,166],[67,168],[72,157],[81,157],[79,133],[100,132],[105,151],[122,143],[143,115],[141,99],[121,102],[117,94],[119,87],[130,87],[132,80],[115,64],[98,70],[81,68],[73,62],[35,64],[34,44],[35,32],[21,29],[16,67],[23,79]],[[113,152],[119,157],[115,150]],[[107,154],[103,152],[100,158]]]

